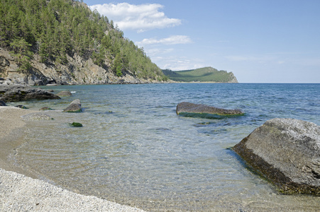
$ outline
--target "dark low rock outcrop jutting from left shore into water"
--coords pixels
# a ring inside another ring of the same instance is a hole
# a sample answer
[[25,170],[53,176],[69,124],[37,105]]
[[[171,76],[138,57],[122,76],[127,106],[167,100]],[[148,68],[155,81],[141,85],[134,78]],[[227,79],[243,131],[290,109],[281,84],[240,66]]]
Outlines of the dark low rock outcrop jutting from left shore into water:
[[0,85],[0,100],[18,102],[26,100],[60,99],[57,95],[40,88],[22,85]]

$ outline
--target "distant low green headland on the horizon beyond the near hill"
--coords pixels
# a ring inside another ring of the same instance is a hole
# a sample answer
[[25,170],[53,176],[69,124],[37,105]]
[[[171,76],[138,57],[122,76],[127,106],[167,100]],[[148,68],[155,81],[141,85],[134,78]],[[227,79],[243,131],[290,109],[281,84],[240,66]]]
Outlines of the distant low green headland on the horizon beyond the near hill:
[[172,81],[238,83],[236,76],[234,76],[232,72],[218,71],[212,67],[185,71],[171,71],[170,69],[165,69],[162,70],[162,72]]

